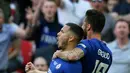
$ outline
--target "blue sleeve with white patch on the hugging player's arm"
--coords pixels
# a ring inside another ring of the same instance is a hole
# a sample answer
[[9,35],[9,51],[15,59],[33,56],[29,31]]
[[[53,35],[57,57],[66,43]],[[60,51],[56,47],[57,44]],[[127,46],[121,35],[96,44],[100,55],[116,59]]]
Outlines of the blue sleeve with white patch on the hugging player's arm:
[[89,48],[87,40],[81,40],[80,43],[76,46],[76,48],[80,48],[83,50],[84,54],[86,55],[87,49]]

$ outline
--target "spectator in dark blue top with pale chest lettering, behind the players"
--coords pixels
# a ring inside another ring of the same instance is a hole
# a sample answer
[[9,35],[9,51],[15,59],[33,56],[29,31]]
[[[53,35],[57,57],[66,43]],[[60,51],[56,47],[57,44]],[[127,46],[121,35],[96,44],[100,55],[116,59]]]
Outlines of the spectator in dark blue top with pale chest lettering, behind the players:
[[42,14],[40,14],[38,20],[39,25],[32,34],[32,39],[35,40],[37,48],[56,45],[57,32],[62,28],[62,25],[58,22],[56,10],[54,1],[45,1],[43,4]]

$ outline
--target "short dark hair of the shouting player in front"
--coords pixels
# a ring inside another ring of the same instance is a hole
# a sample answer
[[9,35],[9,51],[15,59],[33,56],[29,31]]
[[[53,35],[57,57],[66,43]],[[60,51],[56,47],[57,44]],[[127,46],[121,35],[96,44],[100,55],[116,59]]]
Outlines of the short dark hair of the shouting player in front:
[[66,25],[70,27],[70,30],[77,36],[78,38],[77,41],[80,42],[80,40],[84,36],[83,29],[79,25],[74,24],[74,23],[67,23]]

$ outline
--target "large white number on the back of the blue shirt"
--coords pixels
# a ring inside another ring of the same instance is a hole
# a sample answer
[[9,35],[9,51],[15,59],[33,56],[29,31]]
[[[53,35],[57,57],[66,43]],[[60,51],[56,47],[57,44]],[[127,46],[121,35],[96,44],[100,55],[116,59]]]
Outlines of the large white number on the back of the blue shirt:
[[[106,73],[108,66],[109,66],[108,64],[96,60],[96,65],[92,73]],[[101,69],[103,70],[101,71]]]

